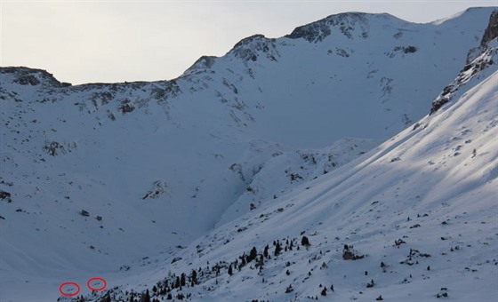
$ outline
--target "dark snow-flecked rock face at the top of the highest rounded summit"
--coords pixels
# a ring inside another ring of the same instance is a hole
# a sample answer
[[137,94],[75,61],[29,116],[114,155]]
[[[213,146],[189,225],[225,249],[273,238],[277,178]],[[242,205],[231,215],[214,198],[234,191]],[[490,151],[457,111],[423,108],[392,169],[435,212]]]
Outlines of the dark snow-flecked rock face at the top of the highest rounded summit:
[[332,35],[333,28],[338,28],[342,35],[352,39],[353,34],[359,28],[361,33],[358,36],[366,38],[368,36],[368,20],[366,20],[365,15],[365,13],[361,12],[332,15],[323,20],[295,28],[286,37],[291,39],[304,38],[310,43],[317,43],[323,41],[327,36]]

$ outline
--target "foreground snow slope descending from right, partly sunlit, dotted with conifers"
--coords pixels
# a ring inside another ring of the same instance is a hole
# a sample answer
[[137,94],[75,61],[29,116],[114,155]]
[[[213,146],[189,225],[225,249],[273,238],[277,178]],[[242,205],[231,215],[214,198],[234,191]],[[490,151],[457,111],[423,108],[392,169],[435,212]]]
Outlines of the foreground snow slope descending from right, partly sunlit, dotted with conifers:
[[[446,107],[106,295],[128,299],[125,290],[148,288],[151,298],[217,301],[496,300],[497,41],[462,70],[475,72]],[[494,63],[480,68],[483,61]]]

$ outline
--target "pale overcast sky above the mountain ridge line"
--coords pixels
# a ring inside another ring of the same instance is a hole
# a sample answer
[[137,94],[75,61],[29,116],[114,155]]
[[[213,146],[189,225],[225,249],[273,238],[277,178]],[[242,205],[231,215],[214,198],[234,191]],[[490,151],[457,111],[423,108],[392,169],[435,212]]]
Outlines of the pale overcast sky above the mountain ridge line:
[[246,36],[279,37],[339,12],[389,12],[425,23],[487,1],[5,1],[1,66],[62,82],[172,79]]

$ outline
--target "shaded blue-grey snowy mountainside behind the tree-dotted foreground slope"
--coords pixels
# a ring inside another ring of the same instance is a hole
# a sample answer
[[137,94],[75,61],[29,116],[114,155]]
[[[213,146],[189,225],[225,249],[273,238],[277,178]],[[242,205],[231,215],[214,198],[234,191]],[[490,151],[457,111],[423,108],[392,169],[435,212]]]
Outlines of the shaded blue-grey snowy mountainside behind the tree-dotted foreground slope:
[[[51,300],[60,283],[94,275],[109,286],[155,282],[164,272],[141,271],[422,117],[490,12],[438,25],[331,16],[287,37],[247,38],[170,82],[70,87],[2,68],[2,300]],[[366,139],[295,153],[343,137]]]

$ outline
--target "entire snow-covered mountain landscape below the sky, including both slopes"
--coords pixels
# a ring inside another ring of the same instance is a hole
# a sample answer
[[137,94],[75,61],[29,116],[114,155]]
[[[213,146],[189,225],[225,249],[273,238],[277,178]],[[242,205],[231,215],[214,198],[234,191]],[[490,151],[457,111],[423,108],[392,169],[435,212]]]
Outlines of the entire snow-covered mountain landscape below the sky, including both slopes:
[[497,298],[493,11],[333,15],[173,81],[1,68],[0,298],[88,294],[96,275],[127,300],[155,284],[194,300]]

